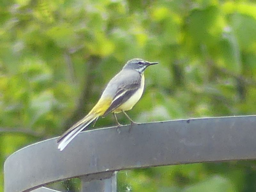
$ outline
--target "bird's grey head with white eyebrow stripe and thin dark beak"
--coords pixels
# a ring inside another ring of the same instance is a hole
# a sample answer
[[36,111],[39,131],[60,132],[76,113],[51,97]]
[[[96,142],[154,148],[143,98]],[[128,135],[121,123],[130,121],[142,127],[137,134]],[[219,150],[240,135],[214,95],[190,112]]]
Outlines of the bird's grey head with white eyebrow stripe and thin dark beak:
[[158,62],[151,63],[142,59],[132,59],[124,65],[124,69],[134,69],[140,73],[143,73],[148,66],[155,64],[158,64]]

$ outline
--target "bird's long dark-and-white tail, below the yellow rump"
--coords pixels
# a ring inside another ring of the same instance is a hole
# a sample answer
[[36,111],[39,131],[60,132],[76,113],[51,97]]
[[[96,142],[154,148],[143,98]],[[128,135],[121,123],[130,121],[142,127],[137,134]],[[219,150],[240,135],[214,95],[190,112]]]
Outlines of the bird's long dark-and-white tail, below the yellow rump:
[[58,149],[62,151],[68,143],[76,137],[76,135],[81,132],[85,127],[87,127],[92,121],[97,120],[99,115],[97,114],[88,114],[79,122],[70,127],[65,133],[61,135],[57,143],[59,144]]

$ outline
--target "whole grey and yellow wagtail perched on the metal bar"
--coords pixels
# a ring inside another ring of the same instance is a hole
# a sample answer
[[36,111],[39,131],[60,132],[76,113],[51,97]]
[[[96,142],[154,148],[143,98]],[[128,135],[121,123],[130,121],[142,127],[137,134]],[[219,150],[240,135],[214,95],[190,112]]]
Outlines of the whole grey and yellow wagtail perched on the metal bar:
[[144,90],[143,72],[148,66],[155,64],[158,63],[151,63],[142,59],[129,60],[124,65],[123,69],[109,81],[100,100],[88,115],[63,133],[58,140],[58,148],[60,151],[62,151],[85,127],[93,121],[96,122],[99,116],[104,117],[112,112],[118,126],[120,126],[121,124],[117,121],[116,113],[123,112],[131,121],[131,124],[134,123],[125,111],[132,109],[140,99]]

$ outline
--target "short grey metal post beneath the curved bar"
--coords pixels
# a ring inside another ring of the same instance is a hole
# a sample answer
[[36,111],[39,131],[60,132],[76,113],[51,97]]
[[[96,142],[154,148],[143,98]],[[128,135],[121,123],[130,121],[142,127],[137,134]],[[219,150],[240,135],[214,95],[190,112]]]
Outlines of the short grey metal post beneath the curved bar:
[[80,177],[82,192],[116,192],[116,172],[94,174],[94,180],[90,178]]

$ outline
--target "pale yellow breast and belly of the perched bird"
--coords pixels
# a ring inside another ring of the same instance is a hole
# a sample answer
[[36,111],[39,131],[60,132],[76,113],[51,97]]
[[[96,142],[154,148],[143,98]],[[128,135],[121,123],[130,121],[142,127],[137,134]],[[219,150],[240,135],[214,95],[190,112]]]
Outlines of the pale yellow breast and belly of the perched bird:
[[132,97],[130,97],[126,102],[124,102],[122,105],[116,108],[113,112],[120,113],[122,111],[128,111],[132,109],[132,107],[140,100],[140,97],[142,96],[142,93],[144,90],[144,84],[145,84],[145,78],[144,78],[144,74],[142,73],[140,88],[132,95]]

